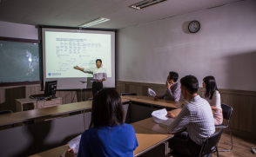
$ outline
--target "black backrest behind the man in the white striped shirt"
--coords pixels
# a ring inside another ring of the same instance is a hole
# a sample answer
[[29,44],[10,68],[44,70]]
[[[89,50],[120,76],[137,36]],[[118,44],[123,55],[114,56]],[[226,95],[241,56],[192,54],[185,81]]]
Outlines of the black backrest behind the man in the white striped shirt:
[[211,154],[219,143],[223,128],[219,129],[219,132],[212,134],[210,137],[206,138],[199,156],[205,156],[206,154]]

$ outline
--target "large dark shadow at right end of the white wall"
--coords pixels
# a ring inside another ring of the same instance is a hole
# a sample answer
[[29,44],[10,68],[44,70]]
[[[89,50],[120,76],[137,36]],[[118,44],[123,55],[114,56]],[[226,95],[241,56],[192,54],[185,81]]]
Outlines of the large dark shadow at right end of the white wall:
[[256,90],[256,50],[234,56],[226,56],[227,87]]

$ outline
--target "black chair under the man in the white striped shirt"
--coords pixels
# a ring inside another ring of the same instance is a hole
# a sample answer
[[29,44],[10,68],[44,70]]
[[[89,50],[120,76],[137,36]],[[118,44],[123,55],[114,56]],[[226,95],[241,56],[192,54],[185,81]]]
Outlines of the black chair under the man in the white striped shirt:
[[[199,157],[210,157],[212,153],[215,153],[214,149],[216,149],[217,156],[219,157],[218,151],[218,143],[223,132],[223,128],[220,128],[217,133],[212,134],[211,136],[207,137],[202,145]],[[171,152],[171,156],[173,157],[185,157],[183,154],[178,154],[176,152]]]

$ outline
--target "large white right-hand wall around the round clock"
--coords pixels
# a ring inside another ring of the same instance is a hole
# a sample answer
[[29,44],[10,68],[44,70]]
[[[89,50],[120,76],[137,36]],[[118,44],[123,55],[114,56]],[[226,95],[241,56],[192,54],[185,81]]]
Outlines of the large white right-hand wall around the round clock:
[[[206,75],[219,88],[256,90],[256,1],[174,16],[118,30],[117,80],[164,84],[169,71]],[[192,34],[187,25],[198,20]]]

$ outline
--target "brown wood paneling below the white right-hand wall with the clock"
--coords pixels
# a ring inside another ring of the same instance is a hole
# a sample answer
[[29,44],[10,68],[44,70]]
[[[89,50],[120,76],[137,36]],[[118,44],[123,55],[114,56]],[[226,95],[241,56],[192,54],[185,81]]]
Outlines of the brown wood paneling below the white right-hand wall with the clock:
[[[117,82],[117,91],[121,93],[138,93],[147,95],[152,88],[157,95],[165,94],[165,84],[143,82]],[[199,88],[199,95],[204,97],[204,88]],[[256,141],[256,92],[232,89],[219,89],[221,101],[233,108],[231,128],[232,134],[251,141]],[[180,101],[184,99],[180,98]],[[226,123],[227,121],[225,121]],[[226,131],[228,131],[226,129]]]

